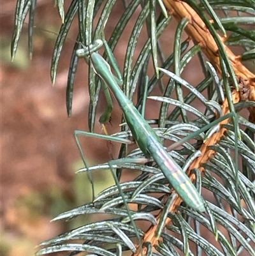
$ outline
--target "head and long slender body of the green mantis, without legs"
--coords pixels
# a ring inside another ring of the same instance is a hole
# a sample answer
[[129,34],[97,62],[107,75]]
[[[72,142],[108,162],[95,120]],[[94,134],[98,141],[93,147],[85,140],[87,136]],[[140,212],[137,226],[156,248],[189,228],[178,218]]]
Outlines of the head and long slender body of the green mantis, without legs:
[[149,158],[152,156],[154,158],[154,161],[162,170],[168,182],[173,186],[182,200],[186,202],[187,206],[198,211],[205,211],[203,201],[194,187],[194,184],[191,183],[189,177],[186,176],[173,158],[166,153],[157,134],[120,89],[111,71],[110,65],[96,52],[101,45],[103,45],[103,41],[96,40],[96,43],[89,45],[86,49],[77,50],[77,56],[85,58],[87,54],[90,54],[94,72],[97,73],[112,90],[124,113],[126,123],[131,130],[133,138],[143,154],[145,154],[145,157]]

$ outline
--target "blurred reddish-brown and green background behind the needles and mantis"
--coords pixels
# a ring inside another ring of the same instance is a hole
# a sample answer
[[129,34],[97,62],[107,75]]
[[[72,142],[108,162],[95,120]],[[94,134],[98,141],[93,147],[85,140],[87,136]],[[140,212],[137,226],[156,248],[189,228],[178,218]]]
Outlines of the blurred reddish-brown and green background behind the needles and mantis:
[[[68,7],[70,1],[65,1]],[[66,230],[73,229],[84,219],[70,223],[50,223],[59,213],[91,201],[91,186],[85,175],[75,175],[83,164],[73,138],[75,130],[87,130],[89,94],[87,66],[78,65],[71,118],[66,114],[66,80],[69,59],[78,31],[73,24],[63,49],[57,80],[50,81],[50,62],[57,32],[61,26],[57,8],[52,1],[38,0],[36,9],[33,58],[27,50],[27,26],[15,59],[10,59],[10,43],[13,33],[16,1],[1,1],[1,255],[33,255],[36,245]],[[67,9],[67,8],[66,8]],[[122,15],[121,1],[114,7],[114,14],[106,27],[112,34]],[[139,10],[138,10],[139,13]],[[135,22],[135,21],[134,21]],[[173,23],[171,23],[173,24]],[[123,33],[115,56],[123,65],[127,39],[133,24]],[[164,49],[173,49],[171,29],[162,36]],[[138,48],[147,39],[143,29]],[[126,38],[125,38],[126,36]],[[138,49],[138,52],[140,52]],[[183,77],[191,84],[203,79],[198,59],[187,66]],[[85,71],[86,70],[86,71]],[[85,72],[84,72],[85,71]],[[153,70],[151,70],[153,73]],[[189,74],[186,76],[186,74]],[[193,75],[191,75],[193,74]],[[157,94],[155,91],[153,94]],[[98,108],[98,118],[105,109],[103,95]],[[156,118],[157,109],[150,109],[147,118]],[[109,133],[119,131],[121,111],[115,102]],[[148,110],[149,106],[147,107]],[[97,119],[98,121],[98,119]],[[95,132],[103,133],[97,122]],[[119,145],[109,146],[106,140],[82,138],[84,154],[89,164],[106,162],[117,156]],[[109,153],[110,152],[110,153]],[[103,190],[113,183],[109,173],[95,174],[96,190]],[[84,217],[85,218],[85,217]]]

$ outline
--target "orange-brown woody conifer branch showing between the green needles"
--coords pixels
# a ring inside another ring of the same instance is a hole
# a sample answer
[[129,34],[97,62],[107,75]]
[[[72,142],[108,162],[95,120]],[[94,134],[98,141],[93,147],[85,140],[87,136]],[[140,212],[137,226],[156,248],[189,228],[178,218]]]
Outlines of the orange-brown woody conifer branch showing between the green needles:
[[[175,0],[163,0],[166,8],[168,9],[170,15],[175,17],[177,21],[182,20],[184,17],[189,19],[189,24],[186,26],[186,33],[188,36],[194,41],[194,43],[199,44],[205,56],[207,56],[208,61],[212,63],[215,70],[221,75],[221,64],[220,64],[220,56],[217,44],[213,36],[208,31],[207,27],[205,26],[203,20],[199,17],[199,15],[186,3],[182,1],[175,1]],[[219,35],[221,38],[222,43],[226,41],[226,38]],[[251,100],[255,101],[255,75],[254,73],[250,72],[245,68],[245,66],[240,62],[240,56],[235,56],[231,50],[224,45],[224,49],[230,58],[230,63],[233,67],[235,75],[237,75],[238,82],[239,82],[239,91],[233,91],[232,99],[233,103],[238,103],[242,100]],[[255,123],[255,108],[251,107],[248,109],[250,112],[249,121]],[[228,107],[228,102],[225,100],[222,103],[222,115],[226,115],[230,112]],[[220,130],[217,133],[214,133],[210,139],[208,139],[200,148],[201,156],[197,158],[189,167],[187,174],[191,178],[191,181],[194,181],[196,178],[194,174],[191,174],[191,170],[194,168],[198,168],[203,172],[203,168],[201,167],[201,163],[206,163],[210,157],[214,154],[213,150],[208,149],[209,146],[217,144],[217,142],[221,139],[226,131],[226,128],[222,127],[222,124],[230,123],[230,119],[225,119],[222,121],[220,125]],[[168,199],[168,195],[165,195],[163,202],[166,202]],[[180,206],[182,199],[177,197],[175,202],[170,208],[171,212],[177,211],[177,207]],[[159,212],[157,215],[157,223],[161,218],[162,211]],[[168,218],[166,220],[165,225],[170,225],[171,219]],[[154,227],[150,227],[145,236],[143,237],[143,243],[150,242],[152,246],[157,245],[157,237],[156,237],[156,229],[157,225]],[[142,255],[139,248],[138,251],[135,253],[136,256]],[[143,255],[146,255],[146,250],[143,250]]]

